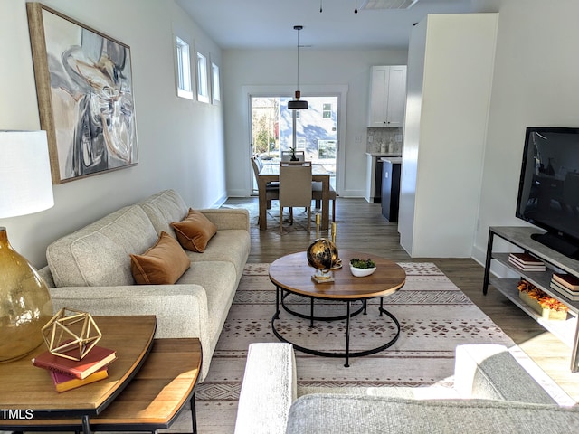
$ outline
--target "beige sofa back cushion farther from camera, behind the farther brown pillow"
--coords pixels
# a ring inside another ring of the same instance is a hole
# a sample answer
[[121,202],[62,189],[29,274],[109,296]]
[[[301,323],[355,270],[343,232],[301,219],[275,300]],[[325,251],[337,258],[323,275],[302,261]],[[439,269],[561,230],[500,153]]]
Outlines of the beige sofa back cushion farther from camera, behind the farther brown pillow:
[[185,218],[189,207],[183,198],[174,190],[165,190],[147,197],[143,202],[138,203],[153,223],[157,235],[165,231],[173,238],[176,233],[171,227],[172,222],[179,222]]

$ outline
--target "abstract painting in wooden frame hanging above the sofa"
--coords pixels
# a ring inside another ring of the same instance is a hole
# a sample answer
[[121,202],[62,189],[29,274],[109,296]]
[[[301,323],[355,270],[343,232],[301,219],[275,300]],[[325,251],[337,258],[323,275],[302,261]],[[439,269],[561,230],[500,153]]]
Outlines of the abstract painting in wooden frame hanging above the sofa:
[[138,165],[130,48],[40,3],[27,3],[52,184]]

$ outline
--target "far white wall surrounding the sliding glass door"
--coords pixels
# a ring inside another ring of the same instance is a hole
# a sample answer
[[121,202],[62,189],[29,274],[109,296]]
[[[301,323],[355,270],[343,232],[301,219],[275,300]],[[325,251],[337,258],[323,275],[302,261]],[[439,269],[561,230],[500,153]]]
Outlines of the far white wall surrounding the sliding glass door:
[[[299,88],[305,90],[332,86],[347,87],[346,143],[341,176],[343,196],[364,197],[365,146],[370,67],[406,64],[406,51],[299,51]],[[296,50],[223,51],[223,90],[225,100],[225,142],[227,144],[227,191],[232,196],[251,192],[249,165],[250,128],[248,98],[243,89],[263,86],[288,89],[296,86]],[[343,120],[343,119],[342,119]]]

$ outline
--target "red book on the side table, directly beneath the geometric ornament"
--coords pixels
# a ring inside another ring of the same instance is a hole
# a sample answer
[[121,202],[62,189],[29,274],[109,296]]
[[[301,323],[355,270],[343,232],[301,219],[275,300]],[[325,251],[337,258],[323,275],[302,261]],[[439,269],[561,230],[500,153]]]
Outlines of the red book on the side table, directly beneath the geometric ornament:
[[100,368],[109,365],[116,358],[117,354],[114,350],[97,345],[81,361],[65,359],[45,351],[43,354],[38,354],[33,358],[33,365],[57,373],[66,373],[84,380],[91,373],[96,373]]

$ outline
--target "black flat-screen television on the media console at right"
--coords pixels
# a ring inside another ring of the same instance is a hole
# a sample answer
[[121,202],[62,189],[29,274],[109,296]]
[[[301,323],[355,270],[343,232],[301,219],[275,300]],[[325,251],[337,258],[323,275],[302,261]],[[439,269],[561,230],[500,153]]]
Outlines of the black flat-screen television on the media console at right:
[[533,239],[579,259],[579,128],[527,127],[517,217]]

